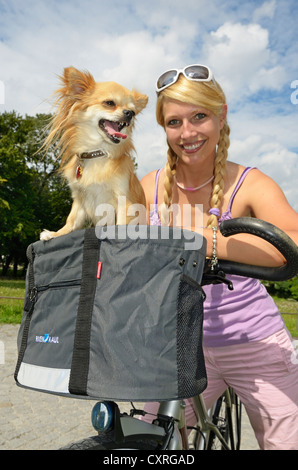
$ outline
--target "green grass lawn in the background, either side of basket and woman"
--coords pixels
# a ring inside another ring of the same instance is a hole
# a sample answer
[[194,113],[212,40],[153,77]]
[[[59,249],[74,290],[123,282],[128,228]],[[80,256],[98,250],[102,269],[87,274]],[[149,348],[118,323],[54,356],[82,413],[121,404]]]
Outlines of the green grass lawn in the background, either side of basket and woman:
[[[0,278],[0,297],[22,297],[25,295],[25,281]],[[274,297],[291,335],[298,337],[298,302],[292,299]],[[23,300],[0,298],[0,323],[18,324],[22,319]],[[288,313],[288,315],[286,314]],[[296,315],[289,315],[296,314]]]

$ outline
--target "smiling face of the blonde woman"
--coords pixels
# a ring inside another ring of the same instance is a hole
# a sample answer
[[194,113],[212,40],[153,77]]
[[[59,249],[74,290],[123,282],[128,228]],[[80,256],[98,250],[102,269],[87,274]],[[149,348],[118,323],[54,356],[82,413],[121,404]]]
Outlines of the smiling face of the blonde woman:
[[206,108],[167,99],[163,116],[168,143],[181,163],[194,165],[207,159],[213,162],[226,105],[221,116],[216,116]]

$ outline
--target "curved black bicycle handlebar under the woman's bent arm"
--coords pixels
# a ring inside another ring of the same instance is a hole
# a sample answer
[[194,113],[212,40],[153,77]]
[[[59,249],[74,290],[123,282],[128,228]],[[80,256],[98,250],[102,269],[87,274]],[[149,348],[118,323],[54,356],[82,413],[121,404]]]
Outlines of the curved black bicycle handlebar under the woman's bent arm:
[[271,243],[286,259],[286,264],[276,268],[253,266],[234,261],[218,260],[216,270],[225,274],[252,277],[266,281],[285,281],[298,274],[298,247],[281,229],[260,219],[239,217],[225,220],[220,224],[220,232],[224,237],[238,233],[249,233]]

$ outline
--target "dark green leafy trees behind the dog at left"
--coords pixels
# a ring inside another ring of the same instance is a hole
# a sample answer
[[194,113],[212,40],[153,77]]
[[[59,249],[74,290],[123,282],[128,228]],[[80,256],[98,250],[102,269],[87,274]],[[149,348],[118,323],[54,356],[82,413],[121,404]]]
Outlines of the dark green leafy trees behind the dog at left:
[[0,254],[2,274],[26,262],[27,246],[43,228],[64,225],[71,198],[59,175],[58,150],[40,150],[50,115],[0,114]]

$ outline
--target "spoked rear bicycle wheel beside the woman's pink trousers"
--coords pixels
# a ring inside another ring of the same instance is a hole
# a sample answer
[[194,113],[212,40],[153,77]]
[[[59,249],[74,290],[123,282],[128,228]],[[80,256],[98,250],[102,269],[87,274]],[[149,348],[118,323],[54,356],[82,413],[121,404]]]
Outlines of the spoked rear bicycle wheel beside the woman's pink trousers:
[[[229,389],[216,402],[212,422],[231,450],[240,449],[242,403],[234,390]],[[209,434],[207,450],[226,450],[213,431]]]

